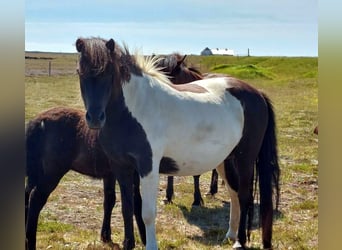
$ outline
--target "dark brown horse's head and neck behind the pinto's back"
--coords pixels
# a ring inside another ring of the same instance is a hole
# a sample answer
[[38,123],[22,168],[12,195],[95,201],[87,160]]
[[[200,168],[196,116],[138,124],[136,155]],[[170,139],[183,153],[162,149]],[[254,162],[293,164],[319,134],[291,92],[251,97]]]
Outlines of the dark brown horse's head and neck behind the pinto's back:
[[174,53],[162,57],[158,61],[158,66],[164,71],[174,84],[184,84],[202,79],[202,74],[195,68],[188,68],[184,60],[185,56]]

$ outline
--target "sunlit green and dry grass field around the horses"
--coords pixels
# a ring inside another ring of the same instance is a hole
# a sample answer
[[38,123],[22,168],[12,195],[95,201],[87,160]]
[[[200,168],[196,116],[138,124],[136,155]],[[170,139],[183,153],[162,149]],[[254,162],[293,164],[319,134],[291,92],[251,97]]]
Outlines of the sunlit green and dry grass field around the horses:
[[[25,121],[55,106],[83,108],[76,75],[76,54],[26,53]],[[51,76],[49,76],[51,62]],[[318,249],[318,123],[317,58],[200,57],[187,64],[202,72],[220,72],[246,80],[273,101],[281,165],[280,214],[274,221],[274,249]],[[192,208],[192,177],[175,178],[175,198],[164,204],[161,176],[157,237],[160,249],[227,249],[221,244],[228,228],[229,197],[223,186],[205,206]],[[209,191],[210,173],[201,176],[202,193]],[[117,188],[119,192],[119,188]],[[41,212],[39,249],[110,249],[100,241],[102,182],[69,172]],[[121,245],[123,222],[120,196],[113,210],[113,240]],[[257,205],[256,205],[257,206]],[[136,230],[137,232],[137,230]],[[255,223],[251,249],[260,249],[261,230]],[[141,249],[136,233],[137,249]]]

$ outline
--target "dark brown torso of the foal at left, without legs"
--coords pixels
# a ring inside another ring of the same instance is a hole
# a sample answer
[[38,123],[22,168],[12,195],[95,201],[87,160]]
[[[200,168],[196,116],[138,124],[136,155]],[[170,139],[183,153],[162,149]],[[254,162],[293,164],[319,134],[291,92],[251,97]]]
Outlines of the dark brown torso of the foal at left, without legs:
[[58,107],[40,113],[27,126],[27,169],[40,165],[45,175],[72,169],[102,177],[102,168],[107,171],[108,166],[103,164],[107,162],[97,138],[97,131],[87,127],[81,110]]

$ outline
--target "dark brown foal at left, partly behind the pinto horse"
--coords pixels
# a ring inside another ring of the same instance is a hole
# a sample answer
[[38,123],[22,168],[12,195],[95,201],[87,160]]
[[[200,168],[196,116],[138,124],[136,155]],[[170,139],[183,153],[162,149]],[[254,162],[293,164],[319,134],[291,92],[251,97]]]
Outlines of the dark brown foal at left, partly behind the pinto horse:
[[[122,189],[122,213],[125,220],[124,248],[134,248],[133,225],[131,225],[132,184],[126,183],[132,174],[130,168],[120,170],[121,163],[110,162],[98,138],[99,131],[89,129],[84,111],[72,108],[53,108],[40,113],[30,121],[26,129],[26,175],[25,225],[26,248],[36,248],[38,217],[48,196],[56,188],[60,179],[69,171],[103,179],[104,217],[101,239],[111,242],[111,213],[115,205],[115,183]],[[134,170],[131,168],[132,171]],[[135,176],[134,195],[140,199],[139,178]],[[136,201],[136,204],[141,202]],[[139,211],[138,209],[137,211]],[[145,241],[145,226],[141,213],[135,213],[137,225]],[[127,229],[126,229],[127,228]]]

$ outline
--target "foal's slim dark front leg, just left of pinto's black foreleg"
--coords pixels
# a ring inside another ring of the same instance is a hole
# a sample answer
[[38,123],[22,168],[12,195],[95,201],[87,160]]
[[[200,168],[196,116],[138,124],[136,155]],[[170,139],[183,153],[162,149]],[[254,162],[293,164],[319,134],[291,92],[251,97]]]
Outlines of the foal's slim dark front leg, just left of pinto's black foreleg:
[[103,178],[103,192],[104,192],[104,201],[103,201],[103,222],[102,222],[102,229],[101,229],[101,240],[103,242],[111,242],[111,216],[112,211],[115,206],[116,202],[116,195],[115,195],[115,182],[116,177],[114,174],[109,174]]

